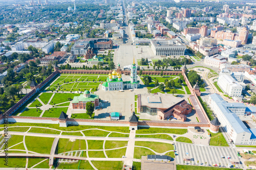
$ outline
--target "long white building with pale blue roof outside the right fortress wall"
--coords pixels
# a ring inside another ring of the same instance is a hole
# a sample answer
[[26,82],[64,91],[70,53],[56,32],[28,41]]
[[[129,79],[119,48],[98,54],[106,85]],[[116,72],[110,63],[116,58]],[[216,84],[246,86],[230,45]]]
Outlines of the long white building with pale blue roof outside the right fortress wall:
[[247,109],[244,104],[227,103],[216,93],[209,95],[208,103],[235,144],[255,144],[256,129],[248,129],[238,117],[238,113],[242,116]]

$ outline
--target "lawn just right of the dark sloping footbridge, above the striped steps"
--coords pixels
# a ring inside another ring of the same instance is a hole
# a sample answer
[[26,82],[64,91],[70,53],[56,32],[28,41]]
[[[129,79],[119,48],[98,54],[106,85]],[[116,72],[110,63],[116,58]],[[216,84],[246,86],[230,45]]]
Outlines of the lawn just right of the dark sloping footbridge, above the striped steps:
[[[86,150],[86,141],[81,139],[76,139],[71,141],[70,139],[59,138],[58,145],[55,150],[55,154],[77,151],[77,150]],[[86,154],[83,154],[86,155]]]

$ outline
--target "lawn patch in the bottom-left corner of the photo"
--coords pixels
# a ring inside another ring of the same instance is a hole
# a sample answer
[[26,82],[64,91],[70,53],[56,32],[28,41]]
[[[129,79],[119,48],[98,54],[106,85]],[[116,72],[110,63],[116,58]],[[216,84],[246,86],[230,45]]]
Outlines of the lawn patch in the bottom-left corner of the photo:
[[0,158],[0,167],[19,167],[25,168],[26,166],[26,157],[19,157],[19,158],[8,158],[8,166],[4,164],[5,158]]

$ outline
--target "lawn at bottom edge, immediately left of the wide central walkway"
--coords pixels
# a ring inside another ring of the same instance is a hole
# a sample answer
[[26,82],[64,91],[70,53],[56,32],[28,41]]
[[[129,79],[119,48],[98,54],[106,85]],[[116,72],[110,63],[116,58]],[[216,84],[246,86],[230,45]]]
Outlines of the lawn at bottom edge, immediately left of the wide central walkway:
[[123,167],[122,161],[92,161],[99,170],[120,170]]

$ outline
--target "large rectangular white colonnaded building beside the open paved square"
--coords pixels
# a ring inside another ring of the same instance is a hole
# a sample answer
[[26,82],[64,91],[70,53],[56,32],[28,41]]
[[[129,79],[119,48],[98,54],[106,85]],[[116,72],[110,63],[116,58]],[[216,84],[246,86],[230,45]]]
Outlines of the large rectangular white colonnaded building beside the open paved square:
[[178,40],[151,40],[151,48],[156,56],[184,55],[186,46]]

